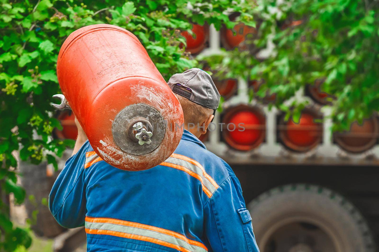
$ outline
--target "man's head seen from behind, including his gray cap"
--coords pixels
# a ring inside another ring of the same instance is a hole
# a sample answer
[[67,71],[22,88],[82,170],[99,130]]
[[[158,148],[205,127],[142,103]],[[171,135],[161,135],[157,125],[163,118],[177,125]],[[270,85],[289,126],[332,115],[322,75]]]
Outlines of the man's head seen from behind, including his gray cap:
[[220,102],[211,76],[199,68],[191,68],[171,76],[168,85],[182,105],[185,129],[197,137],[205,134]]

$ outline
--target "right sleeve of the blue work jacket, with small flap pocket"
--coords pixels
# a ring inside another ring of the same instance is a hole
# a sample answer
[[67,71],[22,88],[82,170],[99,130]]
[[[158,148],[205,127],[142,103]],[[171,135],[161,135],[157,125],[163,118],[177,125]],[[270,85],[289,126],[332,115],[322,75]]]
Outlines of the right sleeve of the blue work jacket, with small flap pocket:
[[229,176],[204,206],[204,227],[213,251],[259,252],[240,182]]

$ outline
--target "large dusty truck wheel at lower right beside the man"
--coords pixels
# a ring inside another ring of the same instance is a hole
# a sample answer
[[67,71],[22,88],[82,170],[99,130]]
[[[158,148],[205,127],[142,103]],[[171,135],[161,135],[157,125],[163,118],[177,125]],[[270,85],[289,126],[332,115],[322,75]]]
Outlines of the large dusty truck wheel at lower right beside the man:
[[258,196],[248,208],[261,252],[376,251],[361,213],[324,187],[277,187]]

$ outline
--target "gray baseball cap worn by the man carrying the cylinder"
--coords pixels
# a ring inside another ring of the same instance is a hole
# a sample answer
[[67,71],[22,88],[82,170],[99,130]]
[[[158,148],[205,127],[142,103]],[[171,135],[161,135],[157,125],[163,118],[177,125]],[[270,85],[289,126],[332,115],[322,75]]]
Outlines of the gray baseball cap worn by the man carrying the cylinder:
[[216,110],[220,103],[220,94],[211,76],[200,68],[191,68],[181,74],[174,74],[168,80],[172,92]]

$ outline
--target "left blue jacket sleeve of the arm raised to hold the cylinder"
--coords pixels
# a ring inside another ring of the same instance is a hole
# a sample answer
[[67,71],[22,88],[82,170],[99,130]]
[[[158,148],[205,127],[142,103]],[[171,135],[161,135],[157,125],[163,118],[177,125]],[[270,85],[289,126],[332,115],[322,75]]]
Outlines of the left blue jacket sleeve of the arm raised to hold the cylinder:
[[58,175],[49,195],[49,209],[63,227],[83,226],[86,216],[84,164],[88,141],[70,157]]

